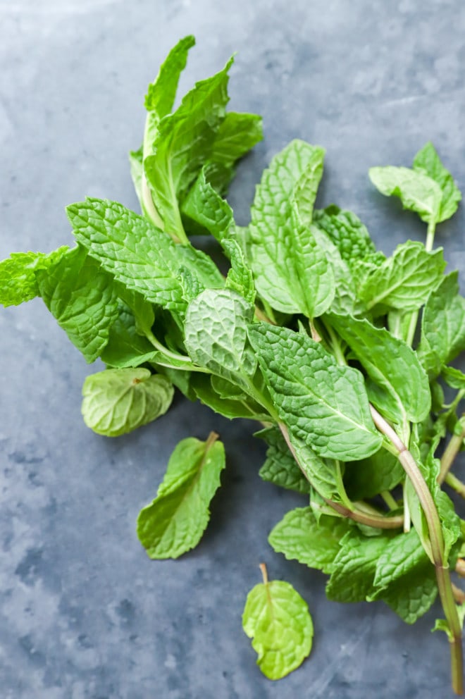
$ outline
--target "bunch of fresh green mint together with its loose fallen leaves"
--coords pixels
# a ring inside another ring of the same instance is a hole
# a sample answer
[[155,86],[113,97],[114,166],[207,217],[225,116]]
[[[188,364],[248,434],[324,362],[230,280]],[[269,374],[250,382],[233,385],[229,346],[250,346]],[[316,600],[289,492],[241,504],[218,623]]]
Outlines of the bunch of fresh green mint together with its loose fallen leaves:
[[[250,224],[236,225],[223,196],[261,120],[226,112],[232,61],[173,111],[193,44],[179,42],[145,98],[143,144],[130,155],[143,215],[102,199],[72,204],[77,246],[12,254],[0,302],[42,297],[87,361],[106,364],[83,388],[85,423],[99,434],[156,419],[174,387],[257,421],[261,477],[304,505],[275,526],[273,548],[329,574],[330,600],[383,600],[408,624],[439,595],[435,628],[449,637],[461,693],[465,595],[450,571],[464,574],[465,521],[441,486],[464,495],[450,466],[464,442],[465,374],[450,362],[465,349],[465,299],[433,251],[460,192],[431,144],[411,168],[373,168],[378,190],[428,226],[426,245],[385,257],[351,212],[314,210],[324,151],[294,140],[263,173]],[[195,247],[199,233],[216,238],[225,276]],[[197,545],[224,466],[215,433],[178,444],[137,523],[150,557]],[[278,679],[309,654],[313,627],[292,586],[262,572],[244,631]]]

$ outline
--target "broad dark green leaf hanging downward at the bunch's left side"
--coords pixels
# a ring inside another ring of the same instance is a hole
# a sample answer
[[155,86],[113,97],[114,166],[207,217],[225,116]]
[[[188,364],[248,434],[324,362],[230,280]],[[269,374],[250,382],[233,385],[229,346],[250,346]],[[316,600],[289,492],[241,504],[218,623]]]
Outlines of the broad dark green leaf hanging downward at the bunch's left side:
[[39,294],[66,331],[68,338],[92,362],[109,340],[118,317],[118,297],[113,278],[75,247],[48,268],[36,272]]

